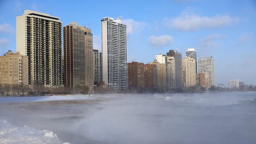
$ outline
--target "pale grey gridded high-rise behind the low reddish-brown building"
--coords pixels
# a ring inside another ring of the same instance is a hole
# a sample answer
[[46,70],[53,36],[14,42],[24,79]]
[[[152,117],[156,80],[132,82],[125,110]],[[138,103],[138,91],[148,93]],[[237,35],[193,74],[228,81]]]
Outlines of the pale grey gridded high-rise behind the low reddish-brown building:
[[198,72],[207,72],[208,74],[208,87],[214,86],[214,59],[213,57],[199,58]]

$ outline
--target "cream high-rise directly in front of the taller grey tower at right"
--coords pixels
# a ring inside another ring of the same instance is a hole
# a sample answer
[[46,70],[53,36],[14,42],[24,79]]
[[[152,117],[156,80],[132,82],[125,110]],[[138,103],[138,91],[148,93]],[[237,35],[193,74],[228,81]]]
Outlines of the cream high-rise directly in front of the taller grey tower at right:
[[182,59],[183,85],[185,88],[196,85],[196,60],[186,57]]

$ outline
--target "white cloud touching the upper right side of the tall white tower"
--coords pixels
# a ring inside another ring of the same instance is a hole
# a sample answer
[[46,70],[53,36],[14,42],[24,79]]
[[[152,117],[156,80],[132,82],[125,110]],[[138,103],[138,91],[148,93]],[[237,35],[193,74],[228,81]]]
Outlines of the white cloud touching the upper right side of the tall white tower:
[[126,24],[127,26],[127,34],[132,34],[134,32],[141,32],[145,29],[148,24],[144,22],[138,22],[133,19],[124,19],[122,20],[123,24]]

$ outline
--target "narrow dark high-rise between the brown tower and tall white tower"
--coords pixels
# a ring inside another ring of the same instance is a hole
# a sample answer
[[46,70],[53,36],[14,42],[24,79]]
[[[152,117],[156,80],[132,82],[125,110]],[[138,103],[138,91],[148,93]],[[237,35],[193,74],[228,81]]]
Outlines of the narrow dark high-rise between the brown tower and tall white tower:
[[102,82],[102,53],[93,50],[94,59],[94,84],[98,85]]

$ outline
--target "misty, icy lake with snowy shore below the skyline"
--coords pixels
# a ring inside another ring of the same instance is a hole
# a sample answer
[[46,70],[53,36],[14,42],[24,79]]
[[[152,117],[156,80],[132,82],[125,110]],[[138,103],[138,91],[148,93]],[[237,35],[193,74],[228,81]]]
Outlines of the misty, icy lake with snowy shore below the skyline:
[[0,98],[0,144],[255,144],[254,98],[255,92]]

